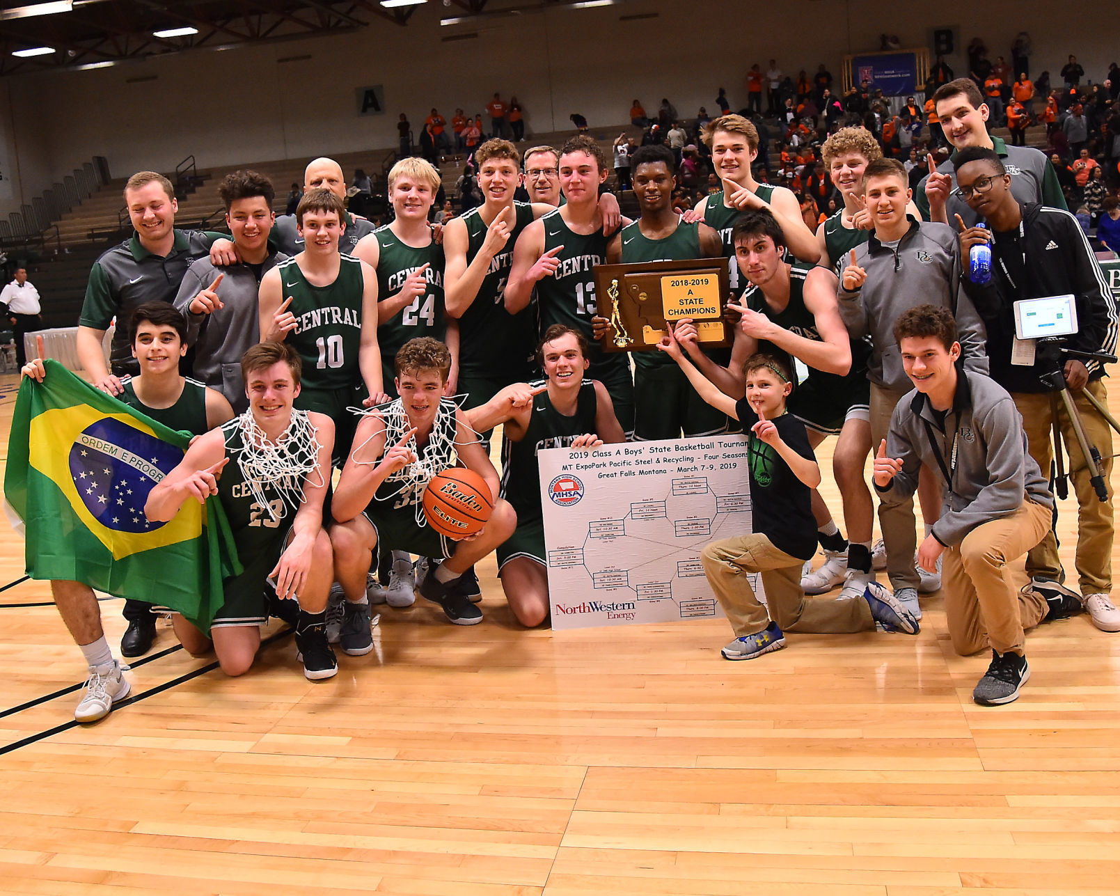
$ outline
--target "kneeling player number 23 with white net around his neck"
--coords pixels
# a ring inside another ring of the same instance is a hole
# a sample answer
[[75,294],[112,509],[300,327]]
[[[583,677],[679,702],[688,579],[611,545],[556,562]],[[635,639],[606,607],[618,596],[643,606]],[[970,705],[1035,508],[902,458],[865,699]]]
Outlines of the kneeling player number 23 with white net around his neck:
[[[299,601],[296,645],[304,675],[328,679],[338,665],[326,634],[333,566],[323,498],[335,426],[326,414],[292,409],[301,367],[293,346],[261,343],[241,364],[249,410],[195,441],[144,506],[149,520],[167,522],[187,501],[217,495],[244,567],[223,582],[225,601],[208,637],[179,615],[175,633],[195,656],[213,644],[222,671],[243,675],[260,647],[260,626],[268,622],[268,579],[280,599]],[[368,618],[366,610],[367,628]]]

